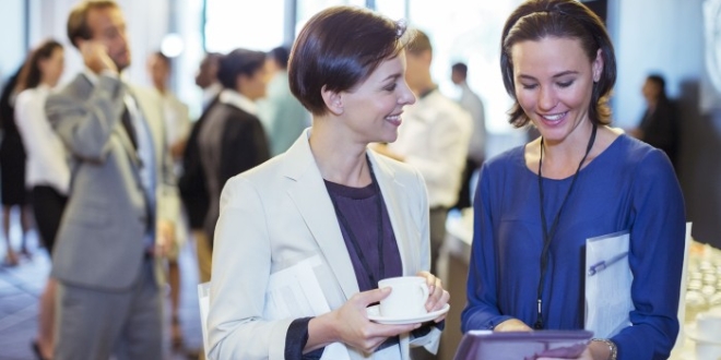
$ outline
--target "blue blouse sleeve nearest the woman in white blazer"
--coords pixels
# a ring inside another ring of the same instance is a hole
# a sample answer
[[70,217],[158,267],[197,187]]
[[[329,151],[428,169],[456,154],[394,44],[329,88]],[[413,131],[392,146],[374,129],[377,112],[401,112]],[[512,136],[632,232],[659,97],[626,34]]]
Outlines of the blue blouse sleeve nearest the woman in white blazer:
[[496,257],[490,196],[493,194],[486,165],[481,170],[473,203],[473,244],[468,278],[468,303],[461,313],[461,331],[493,329],[511,319],[501,315],[496,297]]

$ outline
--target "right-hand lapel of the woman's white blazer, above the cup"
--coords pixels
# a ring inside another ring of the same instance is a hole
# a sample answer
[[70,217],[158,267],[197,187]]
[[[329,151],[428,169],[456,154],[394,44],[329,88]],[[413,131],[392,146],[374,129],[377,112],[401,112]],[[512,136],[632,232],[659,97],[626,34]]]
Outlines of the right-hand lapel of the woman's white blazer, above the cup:
[[[398,199],[395,194],[404,193],[402,189],[404,185],[395,180],[395,175],[393,169],[388,167],[385,163],[378,161],[377,154],[373,151],[367,151],[368,158],[370,159],[370,165],[374,168],[374,173],[376,175],[376,180],[378,181],[378,187],[380,192],[383,195],[383,202],[386,203],[386,208],[388,209],[388,217],[390,218],[391,226],[393,228],[393,233],[395,235],[395,242],[398,243],[398,249],[401,253],[401,262],[403,264],[403,275],[411,274],[415,271],[415,267],[412,267],[411,264],[417,264],[418,260],[416,257],[416,251],[413,251],[413,244],[417,243],[417,236],[414,233],[409,233],[409,227],[411,219],[403,218],[402,211],[402,200]],[[415,275],[415,274],[411,274]]]

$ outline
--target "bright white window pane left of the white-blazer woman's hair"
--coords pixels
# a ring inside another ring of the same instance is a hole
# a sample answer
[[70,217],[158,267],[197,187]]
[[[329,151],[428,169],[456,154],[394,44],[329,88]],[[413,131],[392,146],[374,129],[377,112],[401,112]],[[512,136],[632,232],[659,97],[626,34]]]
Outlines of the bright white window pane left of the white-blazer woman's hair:
[[208,0],[205,47],[268,51],[283,44],[285,0]]

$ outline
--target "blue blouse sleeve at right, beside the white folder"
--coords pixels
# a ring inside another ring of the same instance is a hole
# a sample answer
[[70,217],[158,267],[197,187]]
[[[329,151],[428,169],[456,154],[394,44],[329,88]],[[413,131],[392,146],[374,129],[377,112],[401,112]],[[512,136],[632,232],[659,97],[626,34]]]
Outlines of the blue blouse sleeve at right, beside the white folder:
[[666,359],[678,334],[678,297],[685,244],[684,200],[671,163],[652,151],[631,179],[629,266],[633,326],[612,340],[618,359]]

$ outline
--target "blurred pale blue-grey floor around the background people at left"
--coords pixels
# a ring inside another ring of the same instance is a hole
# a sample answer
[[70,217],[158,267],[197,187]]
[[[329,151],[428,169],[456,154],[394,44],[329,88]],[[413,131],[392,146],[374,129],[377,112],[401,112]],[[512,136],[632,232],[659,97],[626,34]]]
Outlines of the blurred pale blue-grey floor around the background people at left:
[[[11,233],[17,235],[17,232],[19,229],[13,227]],[[15,236],[14,239],[19,237]],[[50,263],[45,250],[37,245],[35,231],[28,235],[28,244],[33,252],[31,260],[23,259],[20,265],[13,267],[0,266],[0,360],[35,359],[29,344],[37,331],[38,299]],[[19,249],[20,243],[13,243],[13,248]],[[181,276],[180,321],[185,335],[185,349],[172,351],[168,338],[165,341],[167,360],[197,359],[202,344],[197,293],[198,272],[193,249],[192,243],[186,244],[178,260]],[[0,261],[4,259],[4,239],[0,236]],[[169,316],[167,319],[166,324],[169,329]]]

